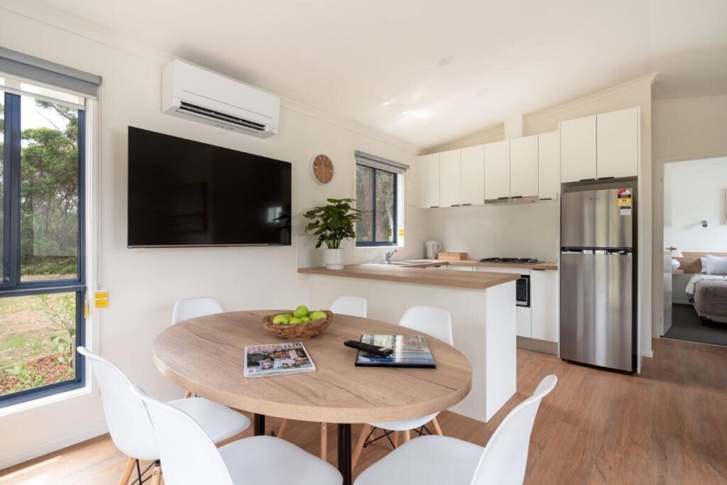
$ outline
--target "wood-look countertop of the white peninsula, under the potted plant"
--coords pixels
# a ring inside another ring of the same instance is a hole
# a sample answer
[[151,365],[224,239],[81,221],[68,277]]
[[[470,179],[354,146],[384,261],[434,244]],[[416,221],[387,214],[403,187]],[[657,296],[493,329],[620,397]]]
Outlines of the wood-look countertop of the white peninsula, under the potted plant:
[[[440,262],[438,264],[441,265],[442,263]],[[491,273],[489,271],[427,271],[423,270],[420,265],[411,267],[361,264],[346,265],[342,270],[329,270],[323,267],[299,268],[298,273],[470,289],[487,289],[518,279],[518,275],[513,273]]]

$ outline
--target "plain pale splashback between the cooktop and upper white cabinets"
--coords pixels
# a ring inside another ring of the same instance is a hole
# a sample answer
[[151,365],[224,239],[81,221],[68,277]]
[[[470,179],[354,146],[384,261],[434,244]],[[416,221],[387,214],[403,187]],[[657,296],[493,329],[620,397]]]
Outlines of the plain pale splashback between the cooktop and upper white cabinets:
[[558,259],[558,203],[486,204],[427,209],[429,239],[444,251],[482,257]]

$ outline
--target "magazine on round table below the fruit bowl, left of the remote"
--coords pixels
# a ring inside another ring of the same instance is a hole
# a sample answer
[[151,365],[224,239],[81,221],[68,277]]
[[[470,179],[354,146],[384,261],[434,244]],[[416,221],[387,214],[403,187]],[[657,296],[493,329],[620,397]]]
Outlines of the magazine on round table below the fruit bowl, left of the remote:
[[245,348],[245,377],[267,377],[315,370],[316,366],[301,342]]

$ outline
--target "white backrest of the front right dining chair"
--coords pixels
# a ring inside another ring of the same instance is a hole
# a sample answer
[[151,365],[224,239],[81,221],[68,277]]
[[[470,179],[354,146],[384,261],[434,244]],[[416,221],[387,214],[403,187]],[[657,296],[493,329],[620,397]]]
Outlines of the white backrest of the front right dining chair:
[[482,452],[472,485],[523,483],[535,415],[540,401],[555,388],[556,382],[555,375],[545,376],[533,395],[502,420]]

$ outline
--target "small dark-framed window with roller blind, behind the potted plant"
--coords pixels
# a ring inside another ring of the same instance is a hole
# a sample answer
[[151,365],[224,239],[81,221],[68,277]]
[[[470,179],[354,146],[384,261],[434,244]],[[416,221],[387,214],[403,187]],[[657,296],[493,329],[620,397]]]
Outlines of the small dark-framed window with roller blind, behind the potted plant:
[[403,232],[401,187],[409,166],[356,152],[356,246],[398,246]]

